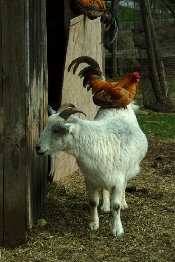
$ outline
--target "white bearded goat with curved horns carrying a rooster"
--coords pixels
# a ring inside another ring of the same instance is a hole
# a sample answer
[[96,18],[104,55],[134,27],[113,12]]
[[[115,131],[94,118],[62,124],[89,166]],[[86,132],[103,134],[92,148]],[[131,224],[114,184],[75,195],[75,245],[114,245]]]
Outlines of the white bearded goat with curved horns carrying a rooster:
[[[67,108],[70,106],[72,108]],[[138,106],[131,103],[128,110],[122,107],[100,108],[95,120],[89,121],[71,115],[76,112],[85,114],[72,104],[64,104],[57,112],[50,107],[52,115],[36,145],[36,152],[42,156],[55,156],[65,151],[76,157],[89,195],[89,229],[96,230],[99,227],[98,190],[102,188],[101,210],[107,213],[111,206],[112,235],[117,238],[124,232],[120,210],[127,208],[127,180],[139,173],[139,164],[147,152],[147,139],[132,108],[137,110]]]

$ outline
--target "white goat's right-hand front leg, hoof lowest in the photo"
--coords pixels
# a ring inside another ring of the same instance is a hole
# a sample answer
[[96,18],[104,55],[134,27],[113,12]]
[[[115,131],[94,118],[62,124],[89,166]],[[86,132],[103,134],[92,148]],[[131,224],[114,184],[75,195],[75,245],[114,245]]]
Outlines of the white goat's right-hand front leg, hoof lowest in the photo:
[[120,238],[124,233],[122,222],[120,219],[121,201],[123,196],[125,183],[120,182],[112,188],[111,208],[113,211],[112,235],[115,238]]

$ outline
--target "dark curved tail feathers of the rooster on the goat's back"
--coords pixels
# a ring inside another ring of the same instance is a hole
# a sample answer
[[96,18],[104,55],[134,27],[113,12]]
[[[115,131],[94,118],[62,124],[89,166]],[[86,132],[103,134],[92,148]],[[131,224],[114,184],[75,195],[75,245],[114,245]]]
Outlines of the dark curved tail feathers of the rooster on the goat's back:
[[100,66],[97,63],[97,61],[95,61],[95,59],[89,57],[89,56],[80,56],[76,59],[74,59],[69,67],[68,67],[68,72],[71,70],[71,67],[74,65],[74,70],[73,70],[73,74],[75,75],[75,72],[78,68],[78,66],[82,63],[87,63],[89,66],[83,68],[80,72],[79,72],[79,76],[80,77],[84,77],[83,79],[83,86],[87,87],[87,91],[89,91],[92,87],[93,87],[93,83],[96,80],[105,80],[103,72],[100,70]]

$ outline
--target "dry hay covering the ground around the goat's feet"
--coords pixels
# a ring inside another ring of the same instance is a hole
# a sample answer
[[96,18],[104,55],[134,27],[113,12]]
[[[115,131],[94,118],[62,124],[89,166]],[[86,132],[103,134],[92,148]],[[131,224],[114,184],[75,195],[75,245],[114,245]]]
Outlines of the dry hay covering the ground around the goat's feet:
[[1,249],[1,261],[175,261],[175,141],[150,138],[148,144],[141,173],[127,185],[122,238],[111,236],[111,213],[99,211],[99,229],[88,230],[88,195],[78,171],[48,184],[41,215],[47,225],[34,225],[26,245]]

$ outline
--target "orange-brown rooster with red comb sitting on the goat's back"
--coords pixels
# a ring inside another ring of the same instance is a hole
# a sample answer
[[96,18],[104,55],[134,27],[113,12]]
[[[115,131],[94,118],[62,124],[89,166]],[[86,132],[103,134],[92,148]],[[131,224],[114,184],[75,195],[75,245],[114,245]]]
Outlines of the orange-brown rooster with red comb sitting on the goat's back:
[[74,65],[73,73],[75,74],[81,63],[89,65],[79,72],[79,76],[84,77],[83,86],[87,86],[87,91],[92,88],[94,104],[103,108],[124,107],[127,109],[127,105],[135,97],[140,79],[139,73],[130,73],[117,82],[105,81],[99,64],[89,56],[81,56],[73,60],[68,67],[68,72]]

